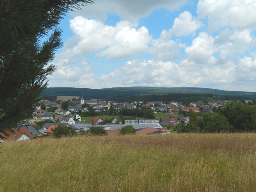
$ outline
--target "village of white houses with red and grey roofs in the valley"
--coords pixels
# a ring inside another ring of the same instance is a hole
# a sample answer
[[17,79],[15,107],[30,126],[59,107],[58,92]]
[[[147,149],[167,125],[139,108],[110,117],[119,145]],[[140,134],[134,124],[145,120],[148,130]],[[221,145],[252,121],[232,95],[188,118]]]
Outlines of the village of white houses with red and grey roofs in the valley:
[[[64,102],[69,101],[69,106],[63,109]],[[28,140],[45,138],[53,134],[54,128],[59,125],[67,126],[69,129],[73,129],[75,132],[88,131],[90,127],[101,127],[105,130],[106,135],[117,135],[120,130],[127,125],[132,125],[136,129],[136,134],[170,134],[168,128],[176,126],[178,124],[188,123],[190,117],[186,114],[190,112],[197,113],[213,113],[216,112],[219,107],[223,107],[226,103],[231,101],[219,100],[203,103],[202,101],[192,101],[189,106],[184,106],[181,102],[170,101],[168,104],[161,101],[147,102],[143,104],[142,101],[134,101],[131,103],[115,103],[111,101],[95,101],[84,100],[83,98],[72,101],[72,99],[64,101],[49,101],[42,100],[39,107],[33,111],[32,119],[27,120],[27,124],[24,126],[13,128],[13,133],[9,133],[9,136],[5,136],[3,141],[11,140]],[[245,101],[250,103],[252,101]],[[42,107],[43,106],[43,107]],[[84,107],[87,106],[87,107]],[[90,122],[86,122],[81,117],[82,114],[88,112],[88,108],[93,108],[95,112],[101,114],[106,110],[115,110],[117,112],[116,117],[112,118],[109,123],[104,122],[104,118],[101,115],[92,117]],[[118,116],[118,112],[122,109],[136,109],[138,107],[146,107],[153,114],[164,113],[169,114],[170,118],[159,119],[128,119],[123,120]],[[44,108],[44,109],[43,109]],[[53,111],[54,112],[50,112]],[[180,116],[177,116],[179,115]],[[184,114],[184,116],[182,115]],[[177,117],[177,118],[176,118]],[[51,120],[51,122],[48,122]],[[38,122],[44,122],[42,128],[34,128]]]

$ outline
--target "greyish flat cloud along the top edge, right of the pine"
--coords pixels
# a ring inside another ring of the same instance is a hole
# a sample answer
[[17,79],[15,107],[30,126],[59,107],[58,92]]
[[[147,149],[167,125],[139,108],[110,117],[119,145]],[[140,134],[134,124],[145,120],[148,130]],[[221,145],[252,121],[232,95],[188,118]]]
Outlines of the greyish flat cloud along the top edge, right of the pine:
[[123,20],[137,23],[139,19],[149,16],[155,9],[179,10],[189,1],[191,0],[95,0],[94,4],[85,6],[80,11],[75,10],[72,14],[105,21],[107,13],[112,13],[117,14]]

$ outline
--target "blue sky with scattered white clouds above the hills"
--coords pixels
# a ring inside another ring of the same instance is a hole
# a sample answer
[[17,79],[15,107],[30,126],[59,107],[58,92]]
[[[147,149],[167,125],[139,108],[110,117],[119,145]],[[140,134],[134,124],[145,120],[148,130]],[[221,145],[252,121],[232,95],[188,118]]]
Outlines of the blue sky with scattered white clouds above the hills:
[[255,0],[95,0],[59,27],[48,87],[256,91]]

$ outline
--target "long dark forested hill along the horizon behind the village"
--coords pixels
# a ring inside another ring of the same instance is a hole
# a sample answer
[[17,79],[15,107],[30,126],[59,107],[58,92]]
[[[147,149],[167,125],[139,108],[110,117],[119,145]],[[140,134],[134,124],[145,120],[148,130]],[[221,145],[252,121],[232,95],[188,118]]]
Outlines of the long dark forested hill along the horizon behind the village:
[[43,91],[43,96],[52,97],[53,99],[55,99],[57,96],[83,96],[84,98],[107,99],[111,101],[118,101],[118,98],[125,98],[125,100],[133,100],[133,98],[140,99],[140,96],[148,94],[174,94],[176,96],[179,96],[180,94],[206,94],[202,96],[220,96],[222,99],[256,99],[256,92],[224,91],[195,87],[114,87],[105,89],[50,87]]

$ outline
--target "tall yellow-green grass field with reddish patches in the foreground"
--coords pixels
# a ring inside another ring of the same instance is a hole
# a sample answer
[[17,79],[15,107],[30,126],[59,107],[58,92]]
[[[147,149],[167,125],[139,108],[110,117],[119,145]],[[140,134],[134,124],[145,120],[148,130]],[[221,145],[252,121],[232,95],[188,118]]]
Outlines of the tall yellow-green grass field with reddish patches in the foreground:
[[4,192],[256,191],[255,133],[5,142],[0,162]]

